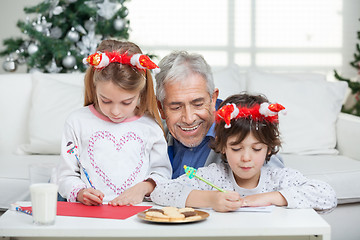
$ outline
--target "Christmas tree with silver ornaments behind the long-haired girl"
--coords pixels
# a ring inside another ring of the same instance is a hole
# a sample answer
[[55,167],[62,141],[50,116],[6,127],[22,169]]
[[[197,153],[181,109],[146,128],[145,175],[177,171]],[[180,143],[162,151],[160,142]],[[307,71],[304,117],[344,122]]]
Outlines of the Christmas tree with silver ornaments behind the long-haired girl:
[[85,71],[82,59],[94,53],[101,40],[129,38],[125,1],[46,0],[24,8],[36,16],[18,21],[24,38],[4,40],[3,68],[12,72],[18,64],[26,64],[28,72]]

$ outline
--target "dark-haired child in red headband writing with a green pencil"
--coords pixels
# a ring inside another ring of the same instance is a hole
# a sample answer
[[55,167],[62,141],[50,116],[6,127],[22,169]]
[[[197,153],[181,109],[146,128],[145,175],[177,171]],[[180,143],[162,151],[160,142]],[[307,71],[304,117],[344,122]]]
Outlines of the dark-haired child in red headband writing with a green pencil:
[[211,207],[234,211],[245,206],[287,206],[330,210],[337,204],[334,190],[325,182],[310,180],[296,170],[266,163],[280,147],[277,112],[263,96],[238,94],[227,98],[216,113],[212,148],[223,162],[199,168],[196,175],[223,188],[186,175],[156,186],[151,199],[160,205]]

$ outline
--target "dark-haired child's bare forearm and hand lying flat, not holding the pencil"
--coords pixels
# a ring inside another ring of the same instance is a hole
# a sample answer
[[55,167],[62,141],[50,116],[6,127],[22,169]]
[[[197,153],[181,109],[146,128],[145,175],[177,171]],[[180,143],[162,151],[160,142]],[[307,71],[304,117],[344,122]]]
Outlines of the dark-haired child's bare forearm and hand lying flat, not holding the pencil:
[[246,196],[242,207],[263,207],[269,205],[287,206],[287,201],[280,192],[267,192]]

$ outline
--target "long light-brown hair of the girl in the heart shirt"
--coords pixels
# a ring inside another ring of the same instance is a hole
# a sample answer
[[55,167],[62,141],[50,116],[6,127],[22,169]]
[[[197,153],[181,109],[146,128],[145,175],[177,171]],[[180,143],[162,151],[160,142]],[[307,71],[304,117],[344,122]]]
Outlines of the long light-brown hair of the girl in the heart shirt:
[[[134,43],[118,40],[104,40],[97,48],[100,52],[118,51],[120,54],[127,52],[129,55],[141,53],[141,49]],[[140,91],[140,103],[135,114],[150,115],[162,128],[160,115],[157,108],[154,92],[154,83],[150,70],[138,70],[132,66],[120,63],[110,63],[107,67],[97,70],[89,66],[85,73],[85,99],[84,106],[97,105],[96,83],[111,81],[114,85],[126,91]]]

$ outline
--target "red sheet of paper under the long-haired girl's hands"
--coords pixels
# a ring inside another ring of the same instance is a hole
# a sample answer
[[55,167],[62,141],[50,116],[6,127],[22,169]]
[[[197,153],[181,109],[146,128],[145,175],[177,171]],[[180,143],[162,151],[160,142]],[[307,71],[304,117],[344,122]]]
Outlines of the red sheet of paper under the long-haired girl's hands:
[[[57,202],[56,215],[71,217],[126,219],[149,208],[151,208],[151,206],[114,207],[107,204],[103,204],[100,206],[86,206],[82,203]],[[21,207],[21,209],[31,211],[31,207]]]

